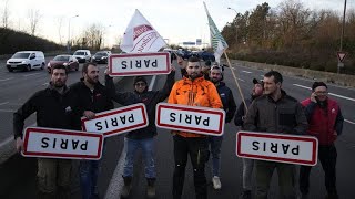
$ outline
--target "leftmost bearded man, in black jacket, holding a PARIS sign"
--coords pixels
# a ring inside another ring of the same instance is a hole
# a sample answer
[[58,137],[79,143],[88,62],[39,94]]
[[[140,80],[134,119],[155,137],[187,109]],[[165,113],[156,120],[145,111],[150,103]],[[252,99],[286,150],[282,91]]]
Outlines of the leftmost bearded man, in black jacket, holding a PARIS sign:
[[[45,90],[34,93],[14,114],[13,133],[16,148],[23,149],[24,121],[37,113],[37,125],[48,128],[80,130],[80,113],[71,90],[65,86],[65,66],[57,65],[51,71],[51,81]],[[70,197],[71,160],[38,158],[38,198],[62,199]]]

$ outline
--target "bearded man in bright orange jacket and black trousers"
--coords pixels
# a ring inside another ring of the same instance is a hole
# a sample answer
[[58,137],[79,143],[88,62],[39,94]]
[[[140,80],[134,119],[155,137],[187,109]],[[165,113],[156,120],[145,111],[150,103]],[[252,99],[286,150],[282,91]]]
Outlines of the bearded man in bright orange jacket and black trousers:
[[[212,82],[204,80],[201,73],[200,59],[191,56],[186,65],[186,74],[175,82],[168,103],[189,106],[222,108],[220,95]],[[207,136],[189,132],[173,130],[174,161],[173,199],[181,199],[184,187],[187,155],[193,167],[195,195],[197,199],[207,198],[207,184],[204,174],[209,160]]]

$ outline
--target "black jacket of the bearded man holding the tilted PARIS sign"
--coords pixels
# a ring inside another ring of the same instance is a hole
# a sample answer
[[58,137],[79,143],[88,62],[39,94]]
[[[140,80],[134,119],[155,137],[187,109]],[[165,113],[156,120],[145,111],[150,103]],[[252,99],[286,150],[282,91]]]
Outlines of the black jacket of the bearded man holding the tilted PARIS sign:
[[100,113],[114,107],[111,101],[111,93],[101,83],[97,83],[91,92],[84,84],[83,78],[81,78],[80,82],[71,85],[70,88],[78,95],[82,112],[91,111],[93,113]]

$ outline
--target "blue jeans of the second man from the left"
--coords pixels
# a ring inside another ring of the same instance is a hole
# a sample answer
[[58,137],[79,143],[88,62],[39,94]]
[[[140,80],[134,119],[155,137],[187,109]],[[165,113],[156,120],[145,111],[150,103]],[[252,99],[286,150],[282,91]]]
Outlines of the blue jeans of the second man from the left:
[[82,199],[98,198],[98,176],[100,160],[80,161],[80,187]]

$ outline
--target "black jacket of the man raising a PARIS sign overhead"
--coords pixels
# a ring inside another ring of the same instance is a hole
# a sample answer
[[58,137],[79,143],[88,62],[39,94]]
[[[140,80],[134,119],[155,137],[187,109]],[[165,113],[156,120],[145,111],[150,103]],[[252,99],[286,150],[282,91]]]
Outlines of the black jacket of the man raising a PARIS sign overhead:
[[164,84],[164,87],[160,91],[148,91],[143,93],[138,92],[115,92],[115,87],[111,77],[106,78],[105,85],[110,88],[112,93],[112,100],[124,105],[132,105],[136,103],[144,103],[146,107],[146,114],[149,118],[149,125],[145,128],[129,132],[125,137],[131,139],[145,139],[151,138],[156,135],[155,126],[155,106],[158,103],[163,102],[170,94],[171,88],[175,82],[175,72],[172,71]]

